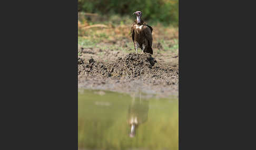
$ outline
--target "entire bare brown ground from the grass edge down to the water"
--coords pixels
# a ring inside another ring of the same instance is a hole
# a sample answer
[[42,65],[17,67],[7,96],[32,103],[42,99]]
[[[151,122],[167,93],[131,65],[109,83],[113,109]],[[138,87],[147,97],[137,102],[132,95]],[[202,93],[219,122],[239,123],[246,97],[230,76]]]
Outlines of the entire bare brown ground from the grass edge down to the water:
[[[102,42],[98,45],[127,47],[124,41]],[[115,92],[143,92],[158,97],[178,96],[178,55],[162,52],[163,46],[153,43],[153,55],[135,54],[115,49],[78,47],[78,88]],[[139,51],[140,53],[140,51]]]

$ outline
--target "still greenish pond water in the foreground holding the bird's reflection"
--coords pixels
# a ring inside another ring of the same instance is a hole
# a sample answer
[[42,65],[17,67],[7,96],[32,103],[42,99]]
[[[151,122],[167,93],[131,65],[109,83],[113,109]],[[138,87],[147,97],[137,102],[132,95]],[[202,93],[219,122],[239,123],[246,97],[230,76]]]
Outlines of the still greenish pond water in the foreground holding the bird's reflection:
[[178,150],[178,103],[84,90],[78,93],[78,149]]

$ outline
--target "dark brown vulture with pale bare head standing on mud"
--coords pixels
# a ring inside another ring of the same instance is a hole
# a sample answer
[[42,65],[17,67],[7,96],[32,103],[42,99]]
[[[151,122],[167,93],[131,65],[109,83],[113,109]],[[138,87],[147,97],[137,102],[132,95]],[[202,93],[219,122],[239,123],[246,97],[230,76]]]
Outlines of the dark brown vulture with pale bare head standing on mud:
[[152,50],[153,28],[147,25],[142,20],[142,13],[140,11],[133,13],[133,15],[134,14],[136,15],[137,19],[132,24],[131,34],[132,34],[135,53],[137,53],[137,48],[140,47],[142,49],[141,54],[143,54],[143,52],[153,54],[153,50]]

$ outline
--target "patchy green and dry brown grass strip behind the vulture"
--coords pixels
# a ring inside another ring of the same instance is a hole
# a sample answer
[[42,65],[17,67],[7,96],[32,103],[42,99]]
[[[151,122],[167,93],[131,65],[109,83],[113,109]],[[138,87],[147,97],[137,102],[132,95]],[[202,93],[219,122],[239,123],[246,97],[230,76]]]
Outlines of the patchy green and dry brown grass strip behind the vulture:
[[[113,15],[109,18],[109,20],[95,20],[95,22],[81,20],[80,26],[83,26],[83,24],[104,24],[107,25],[108,28],[91,28],[83,30],[82,28],[78,27],[78,46],[82,46],[83,48],[100,48],[102,50],[111,49],[115,51],[122,51],[124,53],[130,53],[131,50],[134,51],[134,46],[130,34],[130,28],[132,24],[131,18],[127,16],[120,18],[120,16]],[[178,55],[178,28],[173,27],[172,25],[163,26],[161,24],[155,24],[152,25],[152,27],[153,45],[157,44],[157,42],[160,42],[163,48],[161,50],[157,48],[157,51],[160,53],[171,52]],[[119,44],[116,44],[112,41],[119,42]],[[141,52],[141,49],[139,49],[139,52]]]

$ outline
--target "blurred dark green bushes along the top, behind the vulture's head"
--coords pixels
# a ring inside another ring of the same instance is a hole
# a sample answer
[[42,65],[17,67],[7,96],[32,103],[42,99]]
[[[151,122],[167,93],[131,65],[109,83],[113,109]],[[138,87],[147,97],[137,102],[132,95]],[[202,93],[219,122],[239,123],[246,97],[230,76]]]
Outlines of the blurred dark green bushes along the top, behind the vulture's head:
[[[146,22],[178,26],[179,0],[78,0],[78,12],[97,13],[106,17],[112,15],[132,16],[140,10]],[[135,19],[135,17],[134,17]]]

